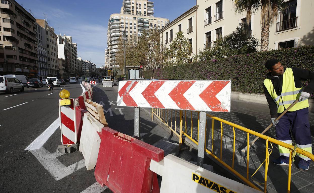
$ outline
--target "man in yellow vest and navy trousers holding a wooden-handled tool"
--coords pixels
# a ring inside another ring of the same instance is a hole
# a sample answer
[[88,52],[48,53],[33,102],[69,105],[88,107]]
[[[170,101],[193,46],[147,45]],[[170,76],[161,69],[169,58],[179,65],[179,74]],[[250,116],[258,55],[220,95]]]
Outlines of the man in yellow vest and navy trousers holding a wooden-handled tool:
[[[285,68],[278,60],[270,59],[265,63],[268,74],[264,80],[264,93],[270,109],[271,121],[276,129],[276,139],[292,145],[291,133],[295,145],[312,153],[311,132],[309,123],[308,97],[314,91],[314,72],[299,68]],[[306,88],[301,80],[310,79]],[[279,120],[275,119],[296,99],[295,104]],[[290,133],[291,128],[291,133]],[[279,146],[280,156],[273,160],[276,165],[289,165],[290,151]],[[308,170],[310,158],[296,154],[300,159],[298,168]]]

